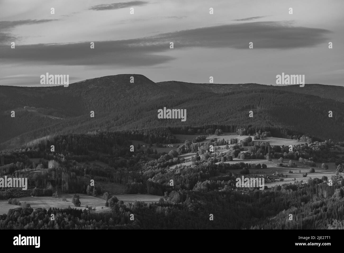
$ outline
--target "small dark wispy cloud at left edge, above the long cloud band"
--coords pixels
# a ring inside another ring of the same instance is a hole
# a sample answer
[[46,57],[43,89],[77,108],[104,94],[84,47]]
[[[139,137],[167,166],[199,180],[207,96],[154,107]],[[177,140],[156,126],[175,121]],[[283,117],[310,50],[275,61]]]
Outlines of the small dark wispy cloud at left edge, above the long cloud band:
[[0,44],[13,41],[16,38],[12,36],[8,31],[19,25],[32,25],[41,24],[56,21],[57,19],[26,19],[26,20],[15,20],[15,21],[0,21]]

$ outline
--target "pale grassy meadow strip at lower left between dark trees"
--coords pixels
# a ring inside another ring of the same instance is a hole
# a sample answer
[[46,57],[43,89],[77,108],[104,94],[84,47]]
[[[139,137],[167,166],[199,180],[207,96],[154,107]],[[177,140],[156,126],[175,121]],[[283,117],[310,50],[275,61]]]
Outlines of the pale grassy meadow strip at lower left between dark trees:
[[[59,198],[52,198],[52,197],[23,197],[18,198],[21,203],[29,203],[33,209],[36,208],[45,208],[49,209],[50,207],[55,208],[67,208],[71,206],[75,208],[72,204],[72,198],[74,194],[61,194],[58,195]],[[85,209],[85,206],[88,205],[89,207],[96,207],[96,212],[103,212],[108,211],[109,208],[105,207],[105,200],[103,197],[97,196],[89,196],[85,194],[79,194],[81,206],[77,207],[79,209]],[[144,202],[158,202],[161,196],[149,195],[149,194],[118,194],[113,195],[118,198],[118,200],[122,200],[124,202],[133,203],[135,200],[137,201],[144,201]],[[63,201],[62,199],[65,198],[67,201]],[[10,205],[7,200],[0,200],[0,214],[8,213],[9,209],[13,209],[19,206]],[[103,209],[101,209],[103,207]]]

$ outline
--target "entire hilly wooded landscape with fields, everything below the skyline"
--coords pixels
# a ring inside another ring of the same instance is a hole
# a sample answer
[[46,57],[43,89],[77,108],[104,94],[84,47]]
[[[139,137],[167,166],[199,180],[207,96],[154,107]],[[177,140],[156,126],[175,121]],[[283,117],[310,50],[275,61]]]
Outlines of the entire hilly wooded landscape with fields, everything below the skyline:
[[[127,78],[0,87],[0,177],[28,179],[1,188],[1,229],[343,228],[342,101],[252,84],[183,93],[141,75],[127,89]],[[163,107],[187,121],[158,119]],[[242,176],[273,184],[238,188]]]

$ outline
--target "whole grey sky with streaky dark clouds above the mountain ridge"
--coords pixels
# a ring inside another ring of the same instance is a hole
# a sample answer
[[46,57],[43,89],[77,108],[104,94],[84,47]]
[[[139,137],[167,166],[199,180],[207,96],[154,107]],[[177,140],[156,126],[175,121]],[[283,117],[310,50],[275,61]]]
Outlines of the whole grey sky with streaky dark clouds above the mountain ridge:
[[69,75],[69,83],[142,74],[154,82],[212,76],[218,84],[276,85],[284,73],[344,86],[343,7],[343,0],[0,0],[0,85],[42,86],[45,73]]

